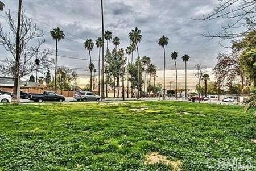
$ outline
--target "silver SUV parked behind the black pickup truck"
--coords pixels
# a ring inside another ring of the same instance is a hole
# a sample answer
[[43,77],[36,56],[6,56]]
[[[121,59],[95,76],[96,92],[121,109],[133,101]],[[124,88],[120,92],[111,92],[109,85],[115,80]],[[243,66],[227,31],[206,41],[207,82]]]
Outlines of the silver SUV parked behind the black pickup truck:
[[100,96],[90,91],[76,91],[73,96],[77,101],[100,101]]

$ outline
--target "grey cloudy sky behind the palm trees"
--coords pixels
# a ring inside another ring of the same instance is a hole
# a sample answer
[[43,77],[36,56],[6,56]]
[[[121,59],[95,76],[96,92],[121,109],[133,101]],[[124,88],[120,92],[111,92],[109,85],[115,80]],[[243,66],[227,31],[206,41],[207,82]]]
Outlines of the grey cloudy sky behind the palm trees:
[[[6,9],[11,9],[14,18],[18,11],[17,0],[2,0]],[[89,53],[82,44],[86,39],[96,40],[101,36],[101,9],[100,0],[26,0],[23,8],[26,16],[32,18],[38,28],[46,31],[44,48],[55,49],[55,41],[49,35],[53,27],[60,27],[65,38],[59,44],[59,55],[89,59]],[[140,56],[149,56],[158,67],[158,81],[162,82],[163,49],[158,39],[164,35],[169,38],[166,47],[167,78],[166,81],[175,82],[174,62],[170,60],[172,51],[179,52],[177,68],[179,69],[179,82],[184,82],[184,63],[181,56],[188,54],[188,79],[191,86],[195,85],[193,68],[196,63],[204,64],[209,71],[216,64],[218,52],[226,51],[218,42],[228,44],[229,41],[210,39],[201,34],[220,31],[223,20],[199,22],[191,18],[201,18],[212,12],[218,5],[217,0],[104,0],[105,30],[112,31],[113,37],[121,39],[120,47],[129,45],[128,33],[138,26],[142,31],[142,41],[139,44]],[[4,12],[0,15],[5,16]],[[7,30],[5,18],[0,16],[4,30]],[[114,45],[110,44],[110,49]],[[0,59],[9,54],[0,47]],[[52,56],[49,56],[52,57]],[[94,48],[92,59],[98,59],[98,49]],[[94,61],[97,64],[97,61]],[[59,57],[58,66],[87,69],[88,60],[69,59]],[[97,65],[96,65],[97,66]],[[80,85],[88,81],[89,71],[76,70],[80,75]],[[213,77],[212,77],[213,80]]]

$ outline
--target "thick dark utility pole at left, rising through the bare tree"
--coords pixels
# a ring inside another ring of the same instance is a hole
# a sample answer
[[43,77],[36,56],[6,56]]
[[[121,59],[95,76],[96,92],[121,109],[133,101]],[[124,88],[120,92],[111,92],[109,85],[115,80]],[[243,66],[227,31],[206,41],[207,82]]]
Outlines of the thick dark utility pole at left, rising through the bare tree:
[[[15,80],[14,80],[14,96],[16,93],[16,101],[20,103],[20,76],[19,76],[19,61],[20,61],[20,15],[22,9],[22,0],[19,0],[19,11],[18,11],[18,24],[17,24],[17,34],[16,34],[16,60],[15,60]],[[16,92],[15,92],[16,90]]]

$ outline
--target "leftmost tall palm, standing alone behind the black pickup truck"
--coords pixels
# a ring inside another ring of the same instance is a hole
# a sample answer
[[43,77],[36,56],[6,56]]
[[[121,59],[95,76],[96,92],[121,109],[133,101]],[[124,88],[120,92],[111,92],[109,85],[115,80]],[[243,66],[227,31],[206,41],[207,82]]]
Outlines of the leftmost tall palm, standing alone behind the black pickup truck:
[[58,42],[60,40],[63,40],[65,37],[65,34],[62,30],[60,30],[59,27],[53,28],[53,30],[50,32],[53,39],[56,40],[56,49],[55,49],[55,93],[57,93],[57,51],[58,51]]

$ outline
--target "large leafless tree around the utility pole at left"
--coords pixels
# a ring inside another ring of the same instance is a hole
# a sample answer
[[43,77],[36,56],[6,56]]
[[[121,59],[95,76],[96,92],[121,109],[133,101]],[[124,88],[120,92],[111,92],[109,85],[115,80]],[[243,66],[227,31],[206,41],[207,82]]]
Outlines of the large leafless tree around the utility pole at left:
[[[17,26],[10,11],[6,12],[6,16],[6,23],[10,27],[10,32],[4,31],[0,24],[0,45],[10,55],[6,56],[3,64],[0,64],[0,73],[15,78],[13,98],[19,103],[17,89],[19,90],[20,87],[20,78],[35,72],[36,66],[38,66],[38,72],[45,72],[46,68],[49,68],[54,61],[47,57],[51,53],[49,49],[40,51],[42,44],[45,42],[42,38],[44,36],[43,31],[40,31],[36,24],[32,23],[31,19],[24,16],[24,10],[21,11],[20,16],[19,55],[17,59],[15,42]],[[35,59],[39,60],[38,65],[36,65]]]

